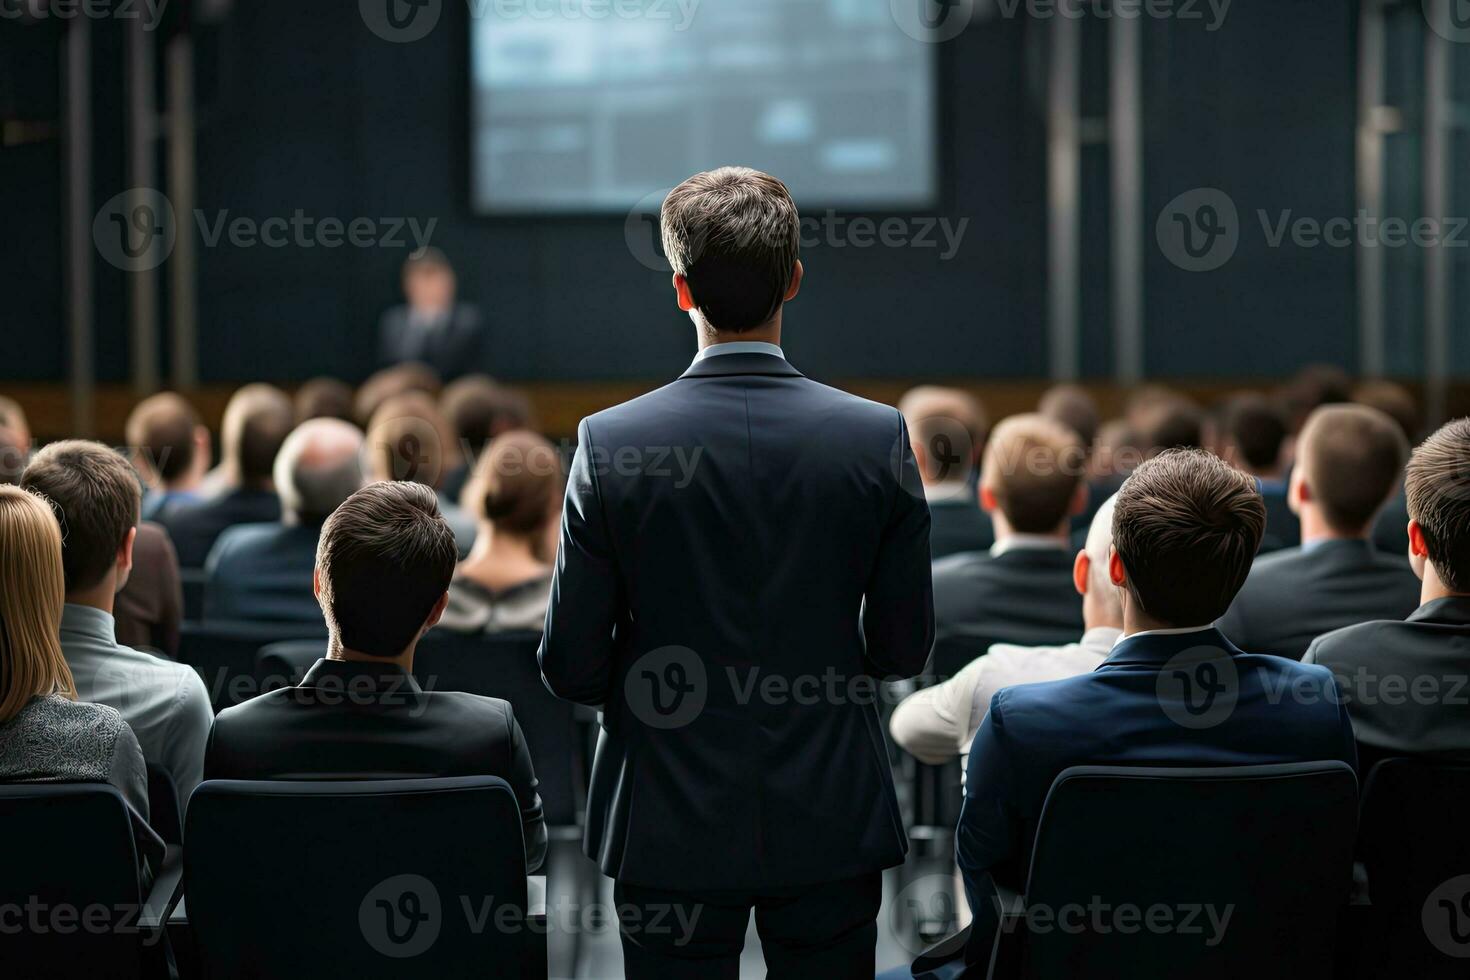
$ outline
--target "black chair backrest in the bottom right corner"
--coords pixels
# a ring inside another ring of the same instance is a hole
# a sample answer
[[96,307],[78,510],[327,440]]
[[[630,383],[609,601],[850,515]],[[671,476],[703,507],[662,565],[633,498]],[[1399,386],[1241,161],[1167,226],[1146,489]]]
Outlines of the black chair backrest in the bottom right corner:
[[1470,765],[1388,758],[1363,790],[1366,976],[1470,976]]

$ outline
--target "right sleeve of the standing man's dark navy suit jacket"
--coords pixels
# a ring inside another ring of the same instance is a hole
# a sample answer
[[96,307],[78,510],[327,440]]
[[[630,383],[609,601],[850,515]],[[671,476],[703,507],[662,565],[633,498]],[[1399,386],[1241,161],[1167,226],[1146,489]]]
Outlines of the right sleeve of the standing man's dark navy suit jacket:
[[923,670],[933,645],[933,582],[929,504],[903,416],[891,460],[898,485],[863,595],[863,636],[873,673],[911,677]]

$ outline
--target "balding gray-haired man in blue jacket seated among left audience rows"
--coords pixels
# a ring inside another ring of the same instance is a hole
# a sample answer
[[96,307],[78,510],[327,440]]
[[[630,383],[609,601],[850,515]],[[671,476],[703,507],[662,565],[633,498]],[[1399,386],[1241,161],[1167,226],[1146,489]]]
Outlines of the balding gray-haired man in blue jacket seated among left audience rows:
[[312,419],[281,444],[272,482],[281,520],[238,525],[204,561],[206,620],[320,623],[312,569],[322,522],[363,485],[363,436],[338,419]]

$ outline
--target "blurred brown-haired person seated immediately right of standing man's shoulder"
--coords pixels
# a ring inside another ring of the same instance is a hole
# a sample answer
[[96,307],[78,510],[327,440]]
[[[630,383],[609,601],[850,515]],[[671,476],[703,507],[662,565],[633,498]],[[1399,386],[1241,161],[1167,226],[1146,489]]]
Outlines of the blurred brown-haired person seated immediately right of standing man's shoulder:
[[908,444],[929,501],[929,551],[933,558],[985,551],[995,544],[991,519],[975,501],[975,470],[989,428],[985,408],[957,388],[920,385],[898,400]]

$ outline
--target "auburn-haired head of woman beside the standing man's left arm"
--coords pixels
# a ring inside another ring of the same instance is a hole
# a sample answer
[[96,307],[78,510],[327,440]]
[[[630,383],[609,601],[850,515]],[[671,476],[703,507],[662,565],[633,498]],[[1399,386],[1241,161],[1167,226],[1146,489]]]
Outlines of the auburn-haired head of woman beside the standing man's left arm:
[[545,529],[560,494],[562,457],[545,438],[523,429],[491,439],[465,488],[476,517],[517,538]]

